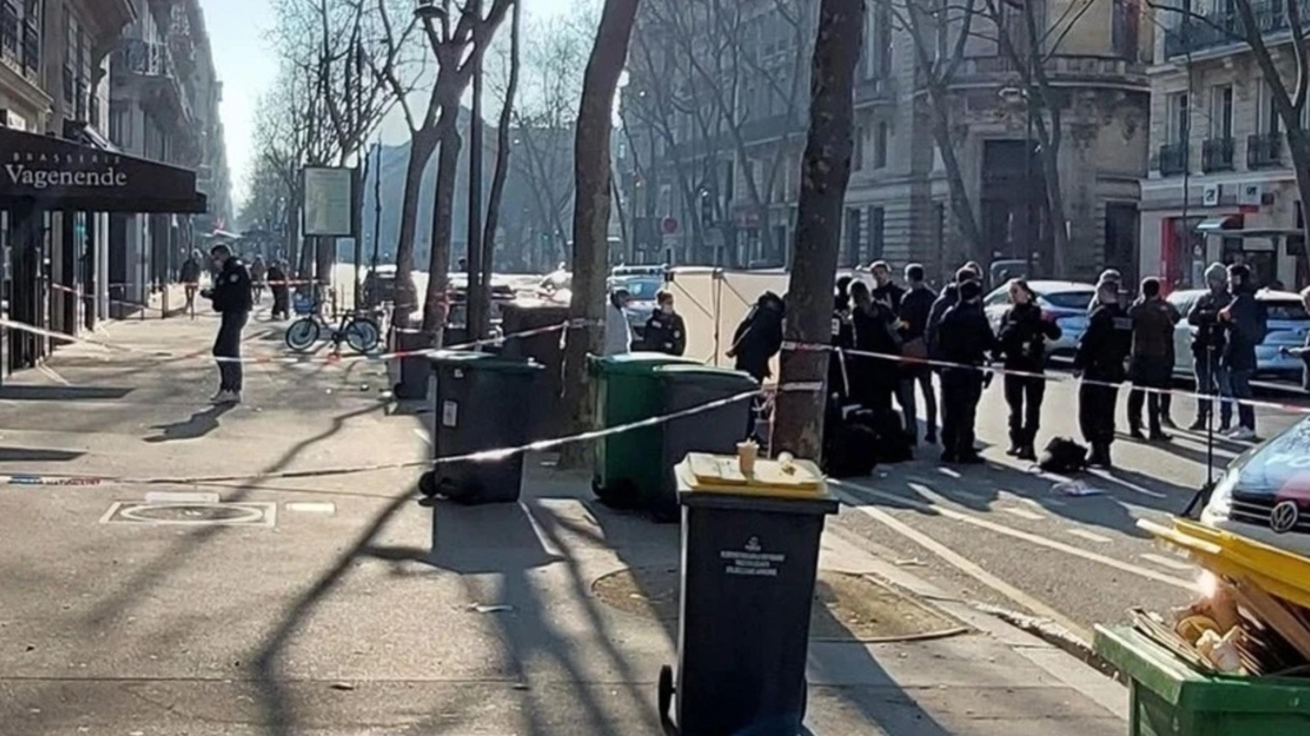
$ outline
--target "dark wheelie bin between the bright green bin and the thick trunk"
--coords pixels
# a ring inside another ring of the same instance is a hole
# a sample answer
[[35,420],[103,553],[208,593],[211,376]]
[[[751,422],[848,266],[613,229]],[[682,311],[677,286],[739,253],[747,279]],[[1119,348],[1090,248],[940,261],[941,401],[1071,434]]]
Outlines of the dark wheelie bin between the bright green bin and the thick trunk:
[[[655,368],[655,378],[660,385],[659,414],[673,414],[760,390],[760,382],[745,371],[700,363],[659,365]],[[660,444],[656,445],[660,449],[660,482],[641,488],[646,511],[656,521],[677,521],[681,509],[673,466],[683,462],[689,452],[736,454],[738,443],[745,439],[749,418],[751,399],[741,399],[662,424]]]

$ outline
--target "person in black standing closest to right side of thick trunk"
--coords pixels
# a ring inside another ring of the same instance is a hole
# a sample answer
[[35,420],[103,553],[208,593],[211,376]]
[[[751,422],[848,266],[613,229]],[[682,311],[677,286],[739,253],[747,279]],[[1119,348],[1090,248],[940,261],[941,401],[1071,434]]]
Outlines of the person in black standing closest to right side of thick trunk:
[[[850,284],[853,308],[850,322],[854,327],[855,350],[880,355],[900,355],[900,335],[896,334],[896,316],[886,303],[874,301],[869,285],[863,282]],[[854,356],[848,361],[850,381],[854,384],[855,401],[865,409],[889,411],[892,393],[896,390],[899,367],[896,360]]]

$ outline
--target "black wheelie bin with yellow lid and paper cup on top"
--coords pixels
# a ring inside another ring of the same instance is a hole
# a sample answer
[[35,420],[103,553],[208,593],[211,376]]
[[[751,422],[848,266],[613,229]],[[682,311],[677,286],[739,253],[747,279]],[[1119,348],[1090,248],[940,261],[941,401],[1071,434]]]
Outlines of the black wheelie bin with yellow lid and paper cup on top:
[[[677,727],[705,736],[799,733],[819,541],[837,500],[807,460],[761,458],[741,473],[735,456],[689,453],[676,477]],[[665,668],[662,714],[672,693]]]

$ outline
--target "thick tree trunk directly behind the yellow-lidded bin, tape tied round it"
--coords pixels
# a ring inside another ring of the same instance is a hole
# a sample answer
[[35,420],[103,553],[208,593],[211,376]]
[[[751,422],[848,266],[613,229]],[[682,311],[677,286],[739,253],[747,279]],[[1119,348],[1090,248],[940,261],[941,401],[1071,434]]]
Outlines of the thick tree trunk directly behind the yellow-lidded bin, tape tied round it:
[[[783,339],[828,344],[841,241],[841,210],[854,149],[853,90],[863,0],[823,0],[811,81],[810,132],[800,173]],[[773,447],[819,460],[823,451],[828,352],[783,350]]]

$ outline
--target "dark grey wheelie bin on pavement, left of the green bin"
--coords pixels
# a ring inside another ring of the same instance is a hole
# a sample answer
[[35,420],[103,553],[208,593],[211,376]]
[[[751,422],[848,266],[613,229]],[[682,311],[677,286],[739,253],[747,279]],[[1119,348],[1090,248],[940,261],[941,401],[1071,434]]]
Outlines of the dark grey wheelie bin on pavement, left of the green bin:
[[[440,351],[431,363],[436,373],[435,460],[532,440],[528,432],[541,365],[470,351]],[[457,503],[514,503],[521,482],[523,453],[515,453],[438,464],[423,474],[419,488]]]

